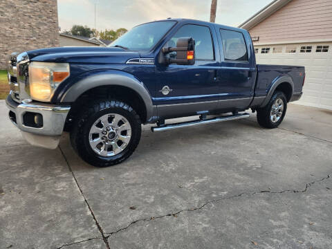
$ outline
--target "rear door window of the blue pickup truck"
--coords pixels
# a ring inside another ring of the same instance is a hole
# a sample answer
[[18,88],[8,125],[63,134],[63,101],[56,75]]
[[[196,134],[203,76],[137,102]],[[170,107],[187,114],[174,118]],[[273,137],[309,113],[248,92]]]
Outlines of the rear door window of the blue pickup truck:
[[223,40],[223,53],[225,60],[248,61],[246,42],[242,33],[231,30],[220,30]]

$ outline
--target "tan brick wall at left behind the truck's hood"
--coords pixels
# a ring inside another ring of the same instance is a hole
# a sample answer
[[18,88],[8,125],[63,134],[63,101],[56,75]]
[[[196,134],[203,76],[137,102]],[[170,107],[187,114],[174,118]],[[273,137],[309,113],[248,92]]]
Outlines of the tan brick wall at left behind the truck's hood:
[[0,0],[0,69],[6,56],[59,46],[57,0]]

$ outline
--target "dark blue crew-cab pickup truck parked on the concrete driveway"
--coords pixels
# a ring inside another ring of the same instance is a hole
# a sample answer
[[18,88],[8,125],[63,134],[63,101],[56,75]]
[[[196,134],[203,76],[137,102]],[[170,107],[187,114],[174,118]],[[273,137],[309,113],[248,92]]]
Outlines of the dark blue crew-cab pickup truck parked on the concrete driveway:
[[[63,131],[86,162],[121,163],[141,124],[166,131],[247,118],[275,128],[299,100],[303,66],[257,65],[241,28],[191,19],[141,24],[109,47],[64,47],[8,57],[10,120],[32,145],[55,149]],[[199,116],[190,122],[166,119]],[[211,116],[213,116],[211,118]]]

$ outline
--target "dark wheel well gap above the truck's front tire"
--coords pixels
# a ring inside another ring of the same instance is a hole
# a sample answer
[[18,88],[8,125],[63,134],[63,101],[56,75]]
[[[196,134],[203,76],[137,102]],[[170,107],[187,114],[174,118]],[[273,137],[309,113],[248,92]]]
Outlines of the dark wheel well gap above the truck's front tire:
[[98,86],[82,93],[82,95],[75,100],[71,106],[71,111],[68,113],[64,130],[71,130],[71,123],[75,120],[75,116],[78,111],[80,111],[84,103],[92,100],[111,100],[114,98],[129,104],[136,111],[136,113],[138,113],[141,122],[145,122],[147,119],[147,109],[142,98],[136,91],[133,91],[126,86]]

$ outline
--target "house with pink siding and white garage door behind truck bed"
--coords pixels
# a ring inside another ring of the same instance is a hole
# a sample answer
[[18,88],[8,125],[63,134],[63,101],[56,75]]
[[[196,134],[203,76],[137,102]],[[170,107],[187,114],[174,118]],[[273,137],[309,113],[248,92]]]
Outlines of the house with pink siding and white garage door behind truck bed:
[[297,104],[332,109],[332,1],[275,0],[239,26],[257,63],[306,66]]

